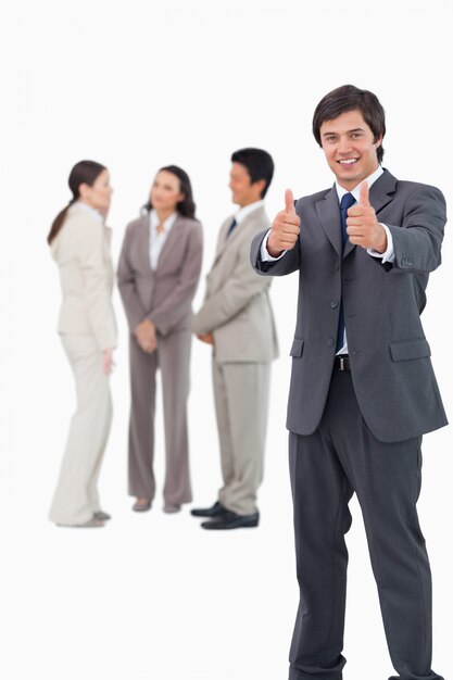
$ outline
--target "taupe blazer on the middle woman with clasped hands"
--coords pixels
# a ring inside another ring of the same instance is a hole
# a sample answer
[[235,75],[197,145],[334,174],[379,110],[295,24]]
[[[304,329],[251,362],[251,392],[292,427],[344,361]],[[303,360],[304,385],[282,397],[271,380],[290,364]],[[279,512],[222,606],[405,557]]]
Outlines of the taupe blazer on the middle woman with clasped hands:
[[149,217],[127,226],[117,281],[131,332],[144,318],[153,322],[161,336],[190,329],[202,254],[201,224],[178,215],[152,270]]

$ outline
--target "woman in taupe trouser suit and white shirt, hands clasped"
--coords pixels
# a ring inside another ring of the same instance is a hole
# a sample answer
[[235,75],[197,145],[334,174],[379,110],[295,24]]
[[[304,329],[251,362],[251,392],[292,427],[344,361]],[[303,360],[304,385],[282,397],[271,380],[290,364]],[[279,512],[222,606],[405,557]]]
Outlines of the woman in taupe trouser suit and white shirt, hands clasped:
[[166,471],[164,512],[192,499],[189,476],[191,302],[202,261],[202,228],[187,174],[176,165],[159,171],[144,215],[131,222],[118,264],[118,288],[130,329],[129,493],[133,509],[151,507],[155,374],[161,368]]

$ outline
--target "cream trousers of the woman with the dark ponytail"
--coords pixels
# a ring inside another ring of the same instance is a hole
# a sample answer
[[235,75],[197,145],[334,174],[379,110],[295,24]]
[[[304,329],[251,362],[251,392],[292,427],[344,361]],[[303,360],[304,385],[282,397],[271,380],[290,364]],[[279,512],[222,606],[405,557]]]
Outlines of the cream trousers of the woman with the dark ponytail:
[[49,518],[55,524],[78,525],[100,509],[97,483],[112,421],[112,400],[95,338],[62,335],[61,341],[75,377],[77,407]]

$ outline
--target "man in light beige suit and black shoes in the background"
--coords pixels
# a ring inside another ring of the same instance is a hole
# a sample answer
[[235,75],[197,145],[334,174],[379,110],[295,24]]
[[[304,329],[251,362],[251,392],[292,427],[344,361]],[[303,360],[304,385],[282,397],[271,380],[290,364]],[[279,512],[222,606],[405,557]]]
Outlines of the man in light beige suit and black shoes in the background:
[[202,307],[192,319],[198,338],[213,347],[213,383],[224,486],[204,529],[256,527],[263,478],[270,362],[278,354],[268,280],[250,265],[250,243],[268,228],[264,196],[274,174],[270,155],[241,149],[231,156],[229,188],[238,212],[221,227]]

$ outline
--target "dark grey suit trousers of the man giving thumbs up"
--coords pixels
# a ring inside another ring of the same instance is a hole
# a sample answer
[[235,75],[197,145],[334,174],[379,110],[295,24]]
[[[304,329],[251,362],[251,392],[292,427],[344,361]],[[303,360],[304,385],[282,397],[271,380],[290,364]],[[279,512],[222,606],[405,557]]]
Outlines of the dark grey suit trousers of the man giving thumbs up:
[[[300,584],[290,680],[342,678],[344,534],[351,526],[348,503],[354,492],[398,678],[442,680],[431,670],[431,577],[416,511],[420,441],[378,441],[362,417],[351,374],[338,370],[317,430],[310,436],[290,432]],[[370,659],[369,669],[363,669],[363,678],[375,672],[372,664]]]

